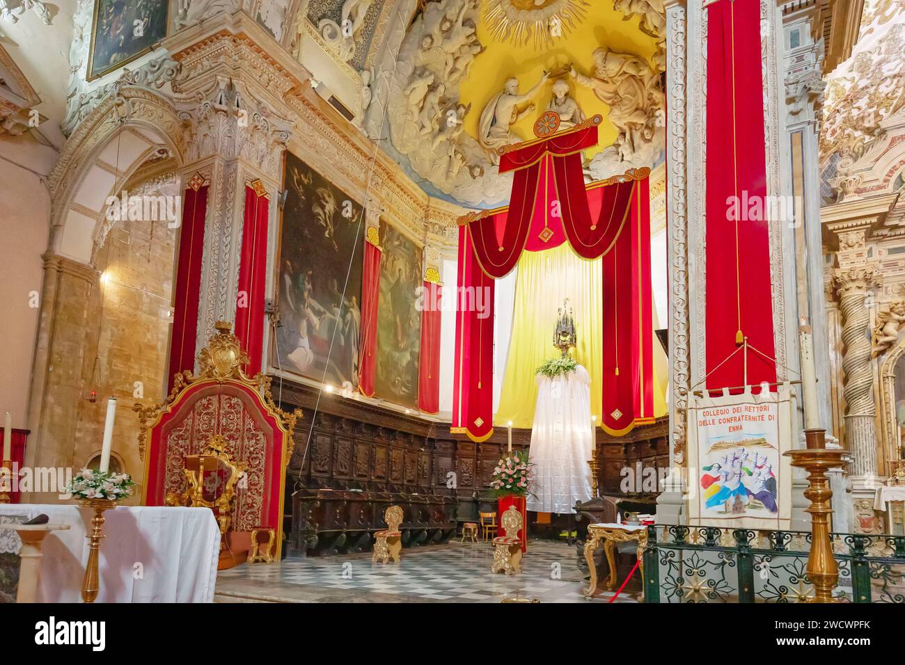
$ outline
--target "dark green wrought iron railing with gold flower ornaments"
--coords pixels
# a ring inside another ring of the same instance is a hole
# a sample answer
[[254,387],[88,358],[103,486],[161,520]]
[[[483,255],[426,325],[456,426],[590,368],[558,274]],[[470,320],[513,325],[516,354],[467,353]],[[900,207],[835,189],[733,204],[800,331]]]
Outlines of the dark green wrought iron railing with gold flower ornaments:
[[[905,536],[833,534],[835,594],[905,603]],[[811,534],[717,527],[648,527],[646,603],[805,603]]]

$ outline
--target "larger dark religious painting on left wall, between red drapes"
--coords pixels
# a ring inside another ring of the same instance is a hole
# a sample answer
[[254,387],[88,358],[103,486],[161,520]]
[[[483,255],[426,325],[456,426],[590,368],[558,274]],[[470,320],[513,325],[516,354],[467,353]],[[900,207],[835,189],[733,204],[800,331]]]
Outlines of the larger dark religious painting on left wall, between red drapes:
[[292,154],[286,156],[284,182],[275,364],[317,381],[356,388],[361,206]]

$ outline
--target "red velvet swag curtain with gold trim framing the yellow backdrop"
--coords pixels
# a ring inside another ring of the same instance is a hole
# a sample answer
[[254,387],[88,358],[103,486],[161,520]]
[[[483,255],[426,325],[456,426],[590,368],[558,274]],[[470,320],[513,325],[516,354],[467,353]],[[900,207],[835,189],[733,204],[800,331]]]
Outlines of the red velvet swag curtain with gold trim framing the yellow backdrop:
[[566,241],[583,258],[603,257],[602,425],[619,435],[653,422],[650,171],[586,186],[580,151],[596,138],[592,126],[503,155],[500,171],[517,169],[510,205],[460,220],[452,431],[473,441],[492,433],[493,318],[482,322],[462,300],[492,289],[523,250]]

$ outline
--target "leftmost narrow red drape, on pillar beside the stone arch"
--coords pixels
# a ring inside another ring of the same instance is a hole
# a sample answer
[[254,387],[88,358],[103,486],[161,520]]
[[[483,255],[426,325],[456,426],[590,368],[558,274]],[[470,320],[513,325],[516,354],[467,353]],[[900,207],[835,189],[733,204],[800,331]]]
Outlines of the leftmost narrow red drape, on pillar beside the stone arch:
[[195,369],[195,336],[198,328],[198,298],[201,295],[201,260],[205,253],[208,189],[208,185],[198,186],[197,189],[189,185],[183,195],[179,249],[176,252],[176,283],[173,286],[173,329],[170,335],[167,393],[173,387],[176,374]]

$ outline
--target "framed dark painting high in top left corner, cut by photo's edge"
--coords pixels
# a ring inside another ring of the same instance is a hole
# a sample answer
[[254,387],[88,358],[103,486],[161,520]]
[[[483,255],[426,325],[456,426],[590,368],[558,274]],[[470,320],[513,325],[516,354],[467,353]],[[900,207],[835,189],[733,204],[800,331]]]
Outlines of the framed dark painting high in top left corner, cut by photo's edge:
[[167,36],[168,0],[95,0],[88,78],[103,76]]

